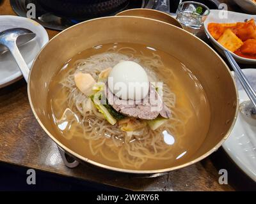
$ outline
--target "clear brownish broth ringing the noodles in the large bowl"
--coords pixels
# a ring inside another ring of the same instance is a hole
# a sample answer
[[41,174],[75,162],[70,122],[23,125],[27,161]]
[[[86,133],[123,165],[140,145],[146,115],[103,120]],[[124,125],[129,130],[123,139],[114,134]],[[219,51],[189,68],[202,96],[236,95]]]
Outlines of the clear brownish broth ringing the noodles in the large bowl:
[[[148,159],[145,164],[136,170],[157,170],[170,168],[172,166],[182,164],[184,161],[188,161],[188,159],[195,154],[196,150],[198,150],[204,142],[205,136],[207,135],[207,131],[209,129],[211,112],[207,96],[195,75],[193,75],[189,68],[184,66],[182,62],[175,59],[175,57],[172,55],[145,45],[138,45],[134,43],[111,43],[100,45],[89,48],[88,50],[84,50],[83,52],[75,55],[66,64],[64,64],[63,67],[60,68],[60,71],[52,78],[51,84],[49,85],[49,95],[47,99],[48,112],[51,117],[52,128],[54,129],[56,137],[69,149],[72,149],[74,152],[83,157],[96,161],[97,163],[106,164],[108,166],[124,168],[120,162],[108,161],[104,159],[104,157],[100,156],[100,154],[94,156],[88,147],[88,140],[84,139],[83,135],[78,135],[68,140],[68,136],[65,135],[67,133],[61,131],[61,129],[59,129],[56,125],[55,118],[61,117],[64,110],[67,108],[67,105],[60,106],[54,103],[54,101],[58,99],[67,97],[65,94],[63,94],[63,92],[60,92],[60,81],[65,76],[67,71],[73,68],[74,62],[79,59],[86,59],[92,55],[106,52],[106,50],[109,48],[121,47],[132,47],[138,53],[143,52],[143,54],[146,56],[151,56],[152,53],[159,55],[164,64],[164,69],[161,68],[157,71],[157,77],[167,84],[172,92],[176,94],[176,107],[186,109],[191,113],[191,116],[186,123],[185,135],[179,136],[178,133],[174,135],[175,143],[173,145],[166,144],[166,148],[171,149],[170,154],[173,155],[173,159],[168,159],[167,161]],[[170,71],[173,73],[171,78],[170,75],[168,75]],[[70,128],[72,128],[72,126]],[[127,169],[133,170],[134,168],[127,167]]]

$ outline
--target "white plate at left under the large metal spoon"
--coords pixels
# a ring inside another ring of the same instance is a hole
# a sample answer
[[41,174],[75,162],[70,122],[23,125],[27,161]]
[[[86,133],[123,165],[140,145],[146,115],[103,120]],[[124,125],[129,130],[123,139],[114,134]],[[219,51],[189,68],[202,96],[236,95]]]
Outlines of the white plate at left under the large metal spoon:
[[[48,34],[42,25],[34,20],[9,15],[0,16],[0,32],[12,27],[23,27],[36,33],[36,37],[26,45],[19,47],[24,60],[31,65],[42,47],[49,41]],[[0,55],[0,88],[12,84],[22,78],[22,74],[10,52]]]

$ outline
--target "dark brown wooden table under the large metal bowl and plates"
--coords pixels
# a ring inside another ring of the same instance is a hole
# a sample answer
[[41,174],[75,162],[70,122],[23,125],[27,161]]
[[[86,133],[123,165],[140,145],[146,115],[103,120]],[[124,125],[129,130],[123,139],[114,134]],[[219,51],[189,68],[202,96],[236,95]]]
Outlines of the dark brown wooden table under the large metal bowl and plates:
[[[1,4],[0,15],[15,15],[9,1],[4,0]],[[52,30],[47,32],[50,38],[58,33]],[[102,172],[84,165],[74,169],[67,168],[56,144],[40,128],[31,112],[26,82],[23,79],[0,89],[0,161],[136,191],[234,191],[246,189],[248,184],[255,187],[223,150],[204,161],[157,178]],[[230,173],[228,185],[218,183],[218,171],[221,168],[226,168]]]

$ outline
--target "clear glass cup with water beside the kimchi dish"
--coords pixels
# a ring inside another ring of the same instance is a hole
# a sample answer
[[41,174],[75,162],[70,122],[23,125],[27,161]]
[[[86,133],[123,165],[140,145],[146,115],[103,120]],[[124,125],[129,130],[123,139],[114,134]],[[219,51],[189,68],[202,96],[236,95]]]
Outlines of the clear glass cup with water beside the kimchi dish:
[[176,18],[186,31],[196,34],[201,29],[209,13],[209,8],[204,4],[195,1],[185,1],[179,4]]

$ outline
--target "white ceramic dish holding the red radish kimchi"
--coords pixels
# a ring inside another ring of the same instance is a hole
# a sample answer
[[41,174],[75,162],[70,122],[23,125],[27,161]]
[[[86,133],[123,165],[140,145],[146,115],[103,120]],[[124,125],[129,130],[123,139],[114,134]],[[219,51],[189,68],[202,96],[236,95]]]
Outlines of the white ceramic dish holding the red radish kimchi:
[[[234,23],[234,22],[244,22],[244,20],[248,19],[250,20],[251,18],[255,19],[256,21],[256,16],[255,15],[248,15],[244,13],[237,13],[233,11],[225,11],[227,12],[227,18],[225,15],[223,15],[223,10],[211,10],[211,13],[209,16],[206,18],[204,22],[204,29],[205,33],[207,34],[207,37],[211,40],[212,45],[223,54],[222,49],[225,49],[218,41],[216,41],[214,38],[212,38],[211,34],[209,33],[207,27],[209,23]],[[237,62],[241,62],[243,64],[256,64],[256,59],[248,59],[244,57],[240,57],[234,53],[232,53],[234,59],[236,59]],[[223,54],[224,56],[224,54]]]

